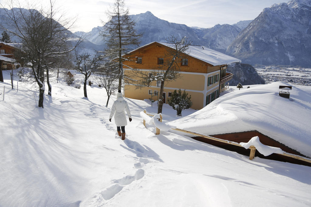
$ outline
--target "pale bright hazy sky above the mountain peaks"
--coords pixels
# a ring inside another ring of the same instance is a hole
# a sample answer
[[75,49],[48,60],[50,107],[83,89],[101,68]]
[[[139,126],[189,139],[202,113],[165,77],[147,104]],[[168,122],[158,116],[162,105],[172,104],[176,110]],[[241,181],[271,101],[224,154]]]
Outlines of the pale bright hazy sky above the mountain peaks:
[[[4,4],[5,0],[0,0]],[[19,1],[21,4],[25,0]],[[38,1],[48,4],[49,1]],[[213,27],[217,24],[234,24],[240,20],[255,19],[260,12],[274,3],[286,0],[125,0],[129,13],[140,14],[150,11],[156,17],[169,22],[196,26]],[[89,32],[92,28],[102,26],[107,21],[106,11],[113,6],[114,0],[55,0],[55,6],[69,19],[75,19],[74,28],[70,30]]]

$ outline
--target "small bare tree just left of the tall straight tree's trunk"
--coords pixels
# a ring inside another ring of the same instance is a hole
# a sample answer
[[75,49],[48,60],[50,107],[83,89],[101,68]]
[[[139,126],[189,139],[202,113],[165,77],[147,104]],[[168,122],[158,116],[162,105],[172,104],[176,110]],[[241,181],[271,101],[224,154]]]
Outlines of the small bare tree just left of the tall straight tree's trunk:
[[111,94],[118,91],[118,79],[118,73],[109,68],[102,68],[100,72],[97,73],[97,80],[100,82],[101,87],[103,87],[107,92],[108,99],[106,107],[108,106]]

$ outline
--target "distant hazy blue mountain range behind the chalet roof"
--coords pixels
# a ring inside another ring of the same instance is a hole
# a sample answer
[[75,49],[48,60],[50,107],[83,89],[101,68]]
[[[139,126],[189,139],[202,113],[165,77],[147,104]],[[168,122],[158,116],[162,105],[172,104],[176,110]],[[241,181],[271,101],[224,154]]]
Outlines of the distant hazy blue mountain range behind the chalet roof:
[[[130,17],[136,21],[135,29],[137,33],[143,33],[141,45],[154,41],[165,42],[166,38],[174,34],[179,38],[187,36],[193,44],[206,46],[220,52],[225,52],[239,32],[252,21],[240,21],[234,25],[215,25],[212,28],[198,28],[161,20],[150,11],[130,15]],[[93,28],[92,31],[87,33],[87,39],[94,44],[103,45],[103,38],[99,34],[100,30],[103,30],[103,26]],[[76,32],[75,34],[82,33]]]

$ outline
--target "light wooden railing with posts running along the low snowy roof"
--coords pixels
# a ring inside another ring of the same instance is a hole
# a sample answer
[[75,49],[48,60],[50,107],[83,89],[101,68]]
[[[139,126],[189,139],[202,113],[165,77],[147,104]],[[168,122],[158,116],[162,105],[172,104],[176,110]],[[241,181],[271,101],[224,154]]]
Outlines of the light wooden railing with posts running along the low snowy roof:
[[[148,115],[148,116],[154,116],[152,114],[147,114],[146,110],[144,110],[144,113],[146,115]],[[162,115],[160,115],[159,121],[162,122]],[[144,119],[144,126],[146,127],[145,119]],[[192,134],[192,135],[195,135],[197,137],[204,137],[204,138],[207,138],[207,139],[211,139],[211,140],[215,140],[215,141],[218,141],[218,142],[227,143],[227,144],[230,144],[230,145],[240,146],[240,147],[244,148],[244,146],[240,145],[238,142],[232,142],[232,141],[229,141],[229,140],[220,139],[220,138],[216,138],[216,137],[211,137],[211,136],[208,136],[208,135],[205,135],[205,134],[201,134],[201,133],[197,133],[197,132],[192,132],[192,131],[188,131],[188,130],[184,130],[184,129],[179,129],[179,128],[172,128],[172,130],[176,130],[176,131],[179,131],[179,132]],[[156,134],[157,135],[160,134],[160,129],[159,128],[156,128]],[[255,156],[255,152],[256,152],[256,147],[251,145],[248,149],[251,150],[250,154],[249,154],[249,159],[253,160],[254,156]],[[287,152],[275,153],[275,154],[284,155],[284,156],[291,157],[291,158],[294,158],[294,159],[297,159],[297,160],[302,160],[302,161],[311,163],[311,159],[303,157],[303,156],[294,155],[294,154],[287,153]]]

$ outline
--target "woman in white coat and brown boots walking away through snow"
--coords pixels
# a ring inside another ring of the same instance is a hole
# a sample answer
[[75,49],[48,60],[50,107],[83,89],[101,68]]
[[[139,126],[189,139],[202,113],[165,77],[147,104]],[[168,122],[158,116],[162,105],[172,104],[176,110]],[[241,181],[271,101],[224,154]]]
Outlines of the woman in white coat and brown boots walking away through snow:
[[[117,100],[114,101],[114,104],[111,107],[109,121],[111,122],[111,118],[114,115],[114,122],[117,125],[118,135],[120,137],[122,136],[122,140],[125,140],[125,126],[128,124],[128,122],[126,121],[124,110],[126,110],[126,112],[128,113],[128,120],[130,120],[131,122],[132,116],[131,116],[130,109],[128,108],[128,102],[124,100],[121,90],[118,90]],[[122,130],[122,133],[121,133],[121,130]]]

